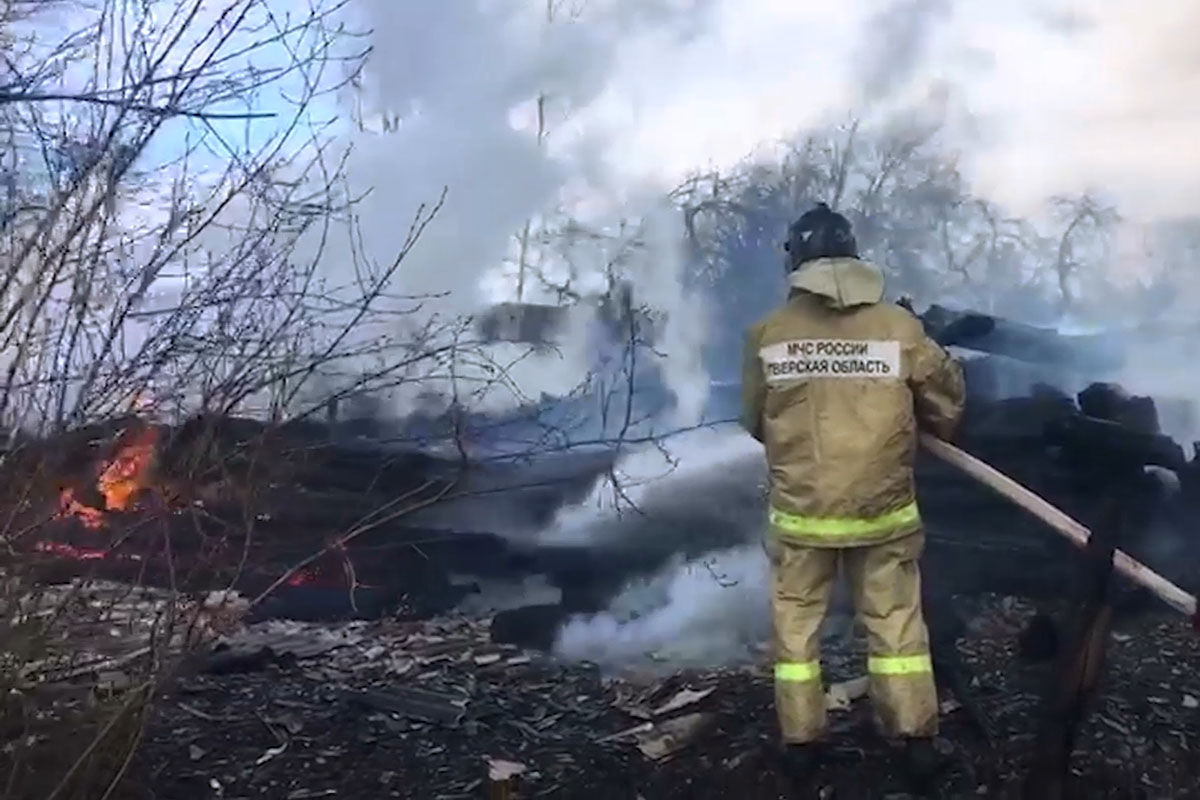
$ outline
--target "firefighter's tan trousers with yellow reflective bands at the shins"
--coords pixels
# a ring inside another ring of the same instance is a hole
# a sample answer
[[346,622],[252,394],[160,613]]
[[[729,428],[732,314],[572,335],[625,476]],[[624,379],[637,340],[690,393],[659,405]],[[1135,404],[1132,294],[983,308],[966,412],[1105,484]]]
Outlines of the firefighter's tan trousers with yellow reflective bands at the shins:
[[937,690],[920,606],[923,545],[923,533],[847,548],[809,547],[773,533],[775,704],[785,742],[809,742],[824,733],[820,631],[839,569],[866,630],[870,699],[884,735],[937,733]]

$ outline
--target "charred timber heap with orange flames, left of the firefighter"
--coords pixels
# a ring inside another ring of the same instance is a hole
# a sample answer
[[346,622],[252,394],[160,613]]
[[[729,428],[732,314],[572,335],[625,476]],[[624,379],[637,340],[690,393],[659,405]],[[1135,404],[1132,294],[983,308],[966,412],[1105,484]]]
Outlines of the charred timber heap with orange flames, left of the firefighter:
[[18,441],[0,468],[0,509],[8,566],[40,583],[269,589],[256,612],[266,616],[427,618],[462,599],[452,575],[523,567],[496,534],[430,528],[414,510],[478,495],[493,519],[503,506],[536,527],[611,461],[581,457],[532,481],[524,464],[348,445],[317,423],[126,417]]

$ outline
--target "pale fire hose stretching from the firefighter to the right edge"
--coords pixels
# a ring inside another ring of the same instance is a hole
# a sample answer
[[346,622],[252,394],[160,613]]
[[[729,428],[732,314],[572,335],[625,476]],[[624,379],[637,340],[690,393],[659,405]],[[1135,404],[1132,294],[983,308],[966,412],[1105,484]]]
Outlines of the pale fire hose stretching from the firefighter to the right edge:
[[[1034,517],[1046,523],[1055,531],[1070,540],[1070,542],[1076,547],[1087,547],[1087,541],[1092,536],[1091,530],[1000,470],[979,461],[971,453],[955,447],[948,441],[943,441],[942,439],[928,433],[920,434],[920,444],[924,445],[925,450],[928,450],[931,455],[952,467],[955,467],[962,473],[966,473],[968,476],[979,481],[988,488],[1025,509]],[[1200,613],[1196,610],[1195,596],[1183,591],[1177,585],[1122,551],[1116,551],[1114,553],[1112,565],[1117,572],[1154,593],[1168,606],[1187,615],[1192,620],[1193,625],[1200,630]]]

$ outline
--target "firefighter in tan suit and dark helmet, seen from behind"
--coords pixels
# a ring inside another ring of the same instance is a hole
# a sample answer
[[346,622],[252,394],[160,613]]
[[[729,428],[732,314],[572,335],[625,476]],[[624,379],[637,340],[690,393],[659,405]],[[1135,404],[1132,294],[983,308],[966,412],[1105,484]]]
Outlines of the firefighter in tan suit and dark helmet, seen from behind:
[[786,764],[817,765],[826,728],[818,633],[841,572],[866,631],[870,698],[914,781],[937,771],[937,693],[917,561],[917,429],[949,438],[959,363],[883,300],[850,222],[821,203],[788,229],[787,303],[746,336],[742,423],[770,473],[775,704]]

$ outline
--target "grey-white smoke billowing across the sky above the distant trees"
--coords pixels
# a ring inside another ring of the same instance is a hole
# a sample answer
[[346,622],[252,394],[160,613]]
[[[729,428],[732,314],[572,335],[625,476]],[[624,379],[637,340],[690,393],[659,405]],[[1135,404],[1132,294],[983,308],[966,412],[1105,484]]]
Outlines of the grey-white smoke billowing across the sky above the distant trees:
[[[353,182],[372,190],[359,206],[362,243],[385,260],[413,211],[448,187],[402,276],[406,294],[438,296],[426,312],[448,315],[514,299],[517,234],[530,219],[529,261],[554,283],[595,293],[619,261],[638,300],[665,320],[661,355],[649,357],[676,395],[677,422],[692,421],[707,384],[694,355],[709,318],[678,278],[679,221],[656,205],[688,172],[731,164],[830,115],[916,104],[953,122],[979,193],[1012,209],[1096,181],[1121,200],[1144,192],[1147,179],[1157,199],[1174,194],[1176,210],[1194,203],[1200,163],[1180,174],[1172,163],[1168,175],[1152,163],[1156,152],[1178,162],[1183,149],[1129,138],[1164,114],[1178,120],[1171,142],[1192,131],[1176,101],[1193,86],[1178,31],[1194,12],[1176,0],[1150,2],[1136,19],[1115,2],[1076,6],[598,0],[558,4],[547,22],[533,1],[359,4],[374,53],[355,102],[368,128],[384,119],[395,127],[353,137]],[[1112,74],[1111,53],[1128,61],[1124,74]],[[1129,53],[1157,66],[1134,65]],[[1051,67],[1039,66],[1042,56]],[[1151,70],[1159,70],[1153,89],[1130,94],[1130,76],[1145,83]],[[1088,146],[1097,136],[1111,146]],[[1164,194],[1168,182],[1176,188]],[[564,216],[596,233],[598,251],[629,219],[648,243],[605,263],[581,247],[554,252],[536,231],[542,223],[560,230]],[[352,249],[331,253],[330,269],[344,271]],[[526,300],[556,301],[532,283]],[[558,351],[494,348],[520,391],[475,402],[491,409],[576,387],[596,347],[589,330],[577,314]]]

